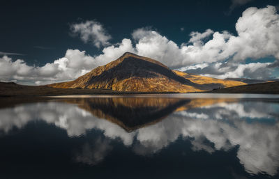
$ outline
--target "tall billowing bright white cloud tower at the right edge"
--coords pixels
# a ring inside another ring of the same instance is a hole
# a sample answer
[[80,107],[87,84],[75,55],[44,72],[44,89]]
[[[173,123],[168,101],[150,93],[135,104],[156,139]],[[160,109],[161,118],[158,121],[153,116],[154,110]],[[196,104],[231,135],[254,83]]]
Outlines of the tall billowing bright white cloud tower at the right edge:
[[239,36],[229,38],[227,54],[235,60],[276,56],[279,59],[279,15],[274,6],[248,8],[236,23]]

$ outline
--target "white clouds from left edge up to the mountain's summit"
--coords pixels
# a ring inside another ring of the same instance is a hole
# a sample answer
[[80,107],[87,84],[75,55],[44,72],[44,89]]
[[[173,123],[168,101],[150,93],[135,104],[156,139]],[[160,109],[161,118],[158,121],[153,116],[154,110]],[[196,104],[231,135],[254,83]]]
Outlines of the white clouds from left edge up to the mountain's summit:
[[135,52],[131,40],[105,47],[103,54],[89,56],[85,51],[68,49],[61,59],[42,67],[27,65],[22,59],[13,61],[8,56],[0,57],[1,81],[17,81],[22,84],[50,84],[56,81],[69,81],[86,74],[93,68],[117,59],[124,52]]

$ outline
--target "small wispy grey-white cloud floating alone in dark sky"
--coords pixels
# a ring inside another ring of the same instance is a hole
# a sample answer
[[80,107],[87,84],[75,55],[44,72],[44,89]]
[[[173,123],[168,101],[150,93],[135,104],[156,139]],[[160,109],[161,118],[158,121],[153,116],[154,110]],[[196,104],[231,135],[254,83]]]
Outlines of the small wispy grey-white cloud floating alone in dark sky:
[[93,45],[100,48],[100,46],[110,45],[110,40],[112,36],[107,34],[104,27],[100,22],[93,20],[88,20],[86,22],[81,22],[78,24],[72,24],[70,26],[72,33],[80,36],[83,42],[92,42]]

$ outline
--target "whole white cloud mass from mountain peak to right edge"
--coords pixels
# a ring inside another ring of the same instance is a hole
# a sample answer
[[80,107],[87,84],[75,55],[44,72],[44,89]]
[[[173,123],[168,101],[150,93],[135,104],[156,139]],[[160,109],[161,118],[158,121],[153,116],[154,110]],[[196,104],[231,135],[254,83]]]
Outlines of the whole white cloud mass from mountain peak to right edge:
[[[204,33],[193,32],[188,42],[193,44],[183,43],[180,47],[156,31],[147,29],[137,29],[133,33],[133,38],[137,40],[138,54],[158,59],[170,67],[184,66],[185,69],[188,65],[199,65],[200,68],[202,64],[207,64],[215,72],[211,70],[209,72],[213,74],[203,72],[201,73],[203,75],[209,74],[221,78],[259,77],[259,73],[254,69],[262,70],[264,67],[271,67],[270,63],[242,64],[238,69],[236,68],[239,63],[245,63],[248,58],[256,60],[274,56],[279,59],[279,15],[276,13],[276,8],[274,6],[262,9],[248,8],[236,23],[236,31],[238,36],[233,36],[227,31],[213,33],[210,29]],[[211,40],[207,42],[201,40],[211,33],[213,33]],[[227,60],[229,63],[226,62]],[[197,66],[195,68],[198,68]],[[269,76],[273,70],[267,69],[264,77]]]

